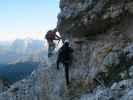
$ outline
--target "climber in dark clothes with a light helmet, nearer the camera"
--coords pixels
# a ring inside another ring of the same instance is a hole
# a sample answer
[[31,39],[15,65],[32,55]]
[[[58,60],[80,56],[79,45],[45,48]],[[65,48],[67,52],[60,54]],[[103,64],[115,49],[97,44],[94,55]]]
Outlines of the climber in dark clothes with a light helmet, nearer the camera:
[[58,51],[57,57],[57,70],[59,70],[59,63],[62,63],[65,67],[66,84],[69,85],[69,67],[72,63],[73,49],[70,47],[68,40],[65,40],[63,46]]

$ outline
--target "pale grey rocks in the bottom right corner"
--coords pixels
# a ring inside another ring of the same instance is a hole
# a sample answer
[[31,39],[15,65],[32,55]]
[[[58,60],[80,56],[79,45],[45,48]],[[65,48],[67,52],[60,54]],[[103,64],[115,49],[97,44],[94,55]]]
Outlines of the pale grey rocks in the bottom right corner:
[[133,80],[115,83],[113,89],[98,87],[94,93],[81,96],[80,100],[132,100]]

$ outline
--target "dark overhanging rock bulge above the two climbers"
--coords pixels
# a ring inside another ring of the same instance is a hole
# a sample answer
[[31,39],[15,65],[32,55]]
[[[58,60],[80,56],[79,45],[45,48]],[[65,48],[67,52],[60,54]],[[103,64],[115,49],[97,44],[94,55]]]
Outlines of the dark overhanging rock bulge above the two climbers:
[[61,0],[58,30],[74,37],[104,33],[133,14],[132,0]]

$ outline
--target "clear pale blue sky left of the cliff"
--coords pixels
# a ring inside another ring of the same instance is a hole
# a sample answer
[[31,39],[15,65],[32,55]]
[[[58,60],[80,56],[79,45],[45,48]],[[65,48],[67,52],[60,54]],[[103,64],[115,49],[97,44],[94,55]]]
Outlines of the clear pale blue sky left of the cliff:
[[58,13],[59,0],[0,0],[0,41],[43,39]]

